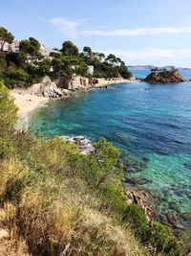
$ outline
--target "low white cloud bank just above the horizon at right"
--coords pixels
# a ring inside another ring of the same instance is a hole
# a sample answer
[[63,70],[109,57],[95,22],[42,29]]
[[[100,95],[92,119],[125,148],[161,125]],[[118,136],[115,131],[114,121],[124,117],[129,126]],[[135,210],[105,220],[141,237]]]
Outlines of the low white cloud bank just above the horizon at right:
[[191,48],[146,48],[137,51],[120,51],[111,49],[102,52],[104,52],[106,55],[113,53],[118,57],[124,59],[128,64],[190,66],[191,59]]

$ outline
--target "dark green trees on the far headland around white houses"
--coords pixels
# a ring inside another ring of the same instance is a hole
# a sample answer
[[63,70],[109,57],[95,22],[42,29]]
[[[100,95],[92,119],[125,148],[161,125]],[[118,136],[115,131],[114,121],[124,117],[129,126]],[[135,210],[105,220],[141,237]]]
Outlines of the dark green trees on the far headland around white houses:
[[[49,58],[41,54],[41,44],[33,37],[20,41],[18,53],[3,51],[5,43],[11,43],[13,38],[10,32],[0,27],[0,79],[11,88],[29,86],[46,75],[53,79],[73,74],[105,79],[129,79],[132,76],[125,63],[115,55],[105,57],[88,46],[80,53],[71,41],[65,41],[62,48],[53,51]],[[90,65],[94,66],[92,75],[88,72]]]

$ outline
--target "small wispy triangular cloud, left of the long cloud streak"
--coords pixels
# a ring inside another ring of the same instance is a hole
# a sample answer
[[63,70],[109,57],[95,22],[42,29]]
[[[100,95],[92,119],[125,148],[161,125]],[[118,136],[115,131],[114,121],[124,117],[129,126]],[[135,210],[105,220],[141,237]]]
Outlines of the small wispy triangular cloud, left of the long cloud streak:
[[87,19],[72,20],[67,18],[53,18],[51,19],[51,23],[55,25],[63,35],[67,38],[71,38],[78,34],[78,26],[86,20]]

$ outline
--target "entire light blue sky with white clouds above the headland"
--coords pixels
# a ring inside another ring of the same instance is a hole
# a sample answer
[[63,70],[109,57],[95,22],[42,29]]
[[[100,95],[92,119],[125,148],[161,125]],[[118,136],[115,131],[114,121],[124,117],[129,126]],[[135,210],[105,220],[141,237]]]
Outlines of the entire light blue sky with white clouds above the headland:
[[191,67],[191,0],[0,0],[16,39],[116,54],[129,65]]

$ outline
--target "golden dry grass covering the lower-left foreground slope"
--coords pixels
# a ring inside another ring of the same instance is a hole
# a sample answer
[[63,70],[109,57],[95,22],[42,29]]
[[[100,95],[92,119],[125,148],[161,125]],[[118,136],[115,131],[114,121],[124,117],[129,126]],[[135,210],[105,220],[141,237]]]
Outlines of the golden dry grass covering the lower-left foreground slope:
[[129,228],[99,212],[99,199],[79,178],[60,182],[56,175],[43,175],[10,203],[8,191],[16,181],[28,180],[29,169],[10,161],[1,163],[0,171],[0,224],[11,233],[2,253],[29,255],[25,240],[32,255],[144,255]]

